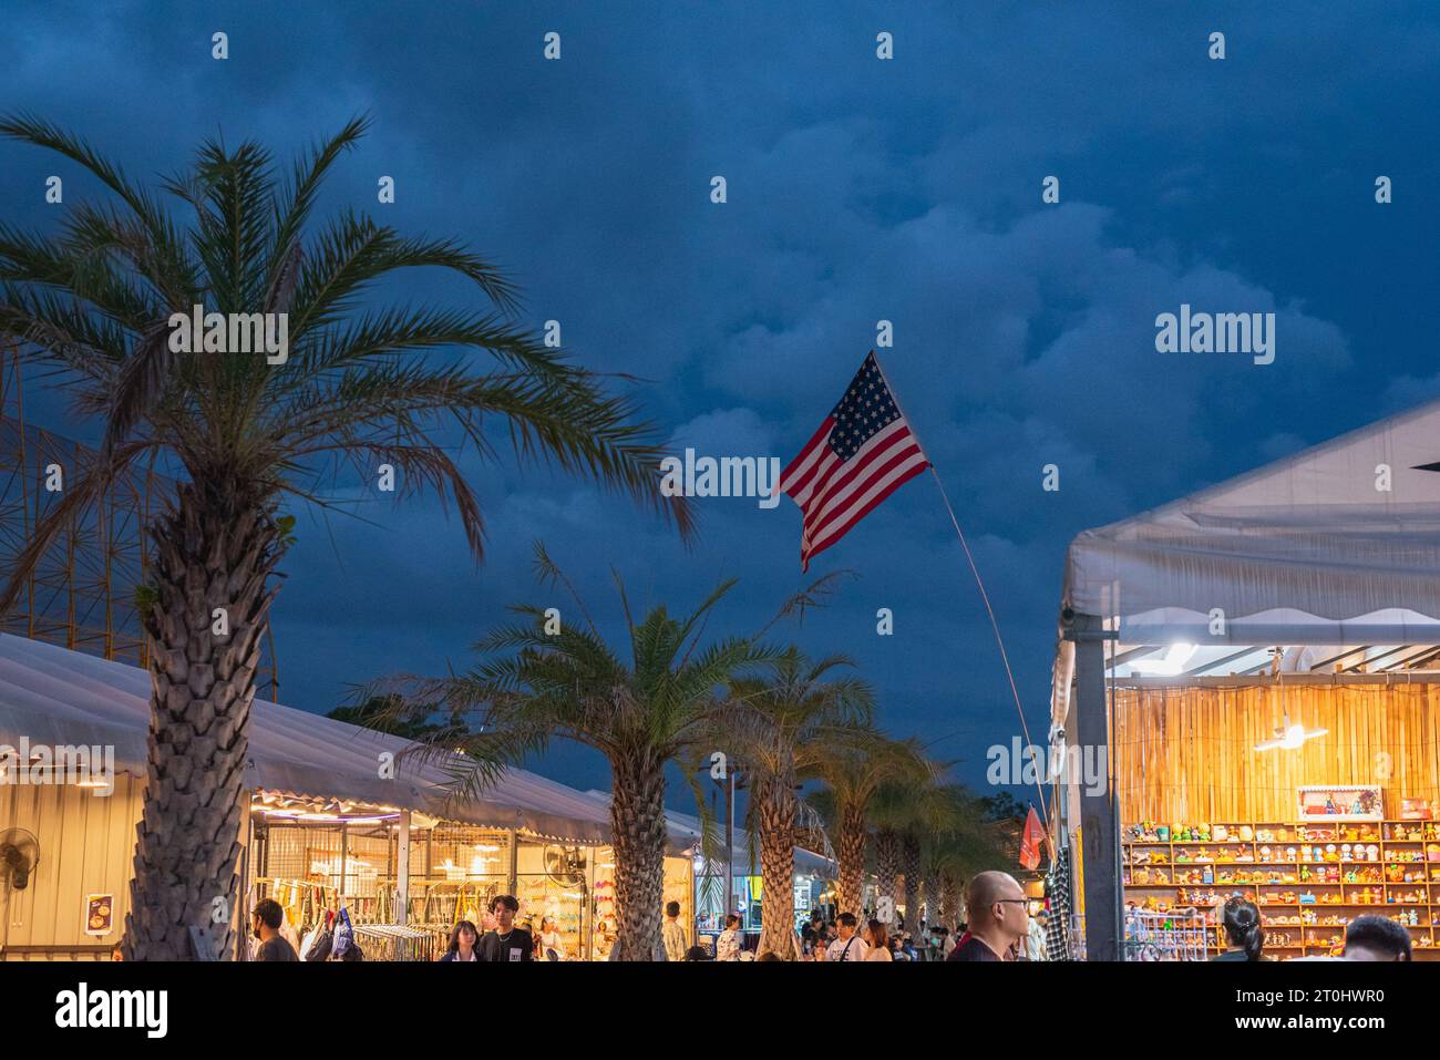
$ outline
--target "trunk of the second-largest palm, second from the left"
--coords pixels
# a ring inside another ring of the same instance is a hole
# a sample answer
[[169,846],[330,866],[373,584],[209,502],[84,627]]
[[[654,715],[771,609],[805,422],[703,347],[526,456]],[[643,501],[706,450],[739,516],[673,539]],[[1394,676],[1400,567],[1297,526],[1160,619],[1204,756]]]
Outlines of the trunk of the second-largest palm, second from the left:
[[649,756],[611,759],[611,832],[621,961],[654,961],[665,899],[665,768]]

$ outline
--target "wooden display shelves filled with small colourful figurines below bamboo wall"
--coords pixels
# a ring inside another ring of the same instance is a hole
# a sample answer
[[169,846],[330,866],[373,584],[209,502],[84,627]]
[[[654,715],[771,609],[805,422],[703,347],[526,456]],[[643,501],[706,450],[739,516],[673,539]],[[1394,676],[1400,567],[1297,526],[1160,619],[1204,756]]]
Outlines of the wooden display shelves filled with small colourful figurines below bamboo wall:
[[[1208,910],[1205,949],[1217,953],[1227,942],[1215,906],[1240,893],[1260,907],[1266,953],[1282,959],[1338,953],[1345,926],[1364,913],[1404,923],[1417,961],[1440,959],[1437,822],[1260,821],[1220,828],[1225,840],[1132,838],[1126,828],[1120,857],[1128,915]],[[1241,830],[1251,838],[1237,838]],[[1342,855],[1346,847],[1349,857]]]

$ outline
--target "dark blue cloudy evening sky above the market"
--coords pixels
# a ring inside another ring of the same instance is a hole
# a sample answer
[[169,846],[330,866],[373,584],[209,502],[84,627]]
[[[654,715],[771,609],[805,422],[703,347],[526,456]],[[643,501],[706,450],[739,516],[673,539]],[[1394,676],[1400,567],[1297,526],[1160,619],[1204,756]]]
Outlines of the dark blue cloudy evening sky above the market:
[[[1424,4],[95,7],[7,6],[3,109],[81,131],[145,177],[215,132],[288,160],[369,111],[327,206],[492,256],[524,287],[526,321],[557,318],[586,364],[651,380],[642,400],[677,449],[788,461],[876,321],[894,321],[888,376],[971,536],[1041,739],[1079,530],[1440,392],[1440,19]],[[549,30],[559,62],[541,58]],[[0,144],[7,220],[55,223],[50,173],[68,200],[94,194],[73,167]],[[374,202],[380,174],[393,206]],[[708,199],[716,174],[724,206]],[[1041,203],[1048,174],[1056,206]],[[1380,174],[1392,205],[1374,200]],[[386,294],[468,297],[428,275]],[[1158,354],[1155,317],[1182,302],[1274,311],[1274,363]],[[92,431],[58,402],[32,415]],[[1041,490],[1051,462],[1058,493]],[[513,462],[475,475],[480,569],[435,498],[328,527],[301,516],[275,612],[285,701],[328,710],[348,683],[464,664],[505,603],[550,602],[530,576],[536,537],[612,629],[609,565],[672,608],[740,576],[714,632],[756,628],[804,583],[789,501],[698,501],[685,552],[583,484]],[[799,642],[852,654],[894,730],[982,782],[985,747],[1018,723],[935,484],[904,487],[812,575],[841,566],[861,578]],[[893,637],[876,635],[880,606]],[[573,749],[540,769],[608,783]]]

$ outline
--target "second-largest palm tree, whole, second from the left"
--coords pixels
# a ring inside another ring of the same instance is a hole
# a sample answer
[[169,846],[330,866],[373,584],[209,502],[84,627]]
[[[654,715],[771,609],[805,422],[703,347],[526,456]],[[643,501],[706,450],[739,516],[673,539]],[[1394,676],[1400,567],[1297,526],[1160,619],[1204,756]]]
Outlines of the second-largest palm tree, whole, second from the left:
[[536,546],[546,585],[563,585],[583,622],[547,619],[546,608],[516,606],[518,622],[477,644],[488,658],[468,673],[410,681],[422,704],[442,703],[451,719],[475,717],[467,737],[445,739],[465,750],[455,796],[478,796],[507,763],[546,750],[556,736],[595,747],[611,765],[611,832],[615,851],[615,913],[621,959],[649,961],[660,946],[665,860],[665,765],[681,762],[706,831],[708,815],[697,766],[708,760],[716,732],[732,707],[727,687],[775,652],[750,638],[701,644],[714,606],[734,588],[721,582],[693,612],[671,618],[655,606],[631,612],[616,576],[629,644],[613,650],[570,580]]

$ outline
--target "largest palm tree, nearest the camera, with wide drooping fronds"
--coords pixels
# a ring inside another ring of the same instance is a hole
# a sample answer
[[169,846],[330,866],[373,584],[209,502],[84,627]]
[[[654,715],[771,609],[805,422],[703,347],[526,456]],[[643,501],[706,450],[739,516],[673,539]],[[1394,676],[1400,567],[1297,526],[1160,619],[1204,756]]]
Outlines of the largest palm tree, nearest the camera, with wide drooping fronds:
[[[0,118],[0,134],[59,153],[112,194],[68,207],[56,235],[0,225],[0,338],[59,374],[104,436],[36,527],[0,614],[118,477],[156,459],[181,472],[147,527],[154,580],[137,592],[154,650],[128,959],[192,956],[194,925],[219,930],[229,955],[230,923],[212,915],[236,906],[255,670],[294,521],[279,511],[285,497],[315,500],[338,465],[366,480],[390,465],[396,495],[433,488],[455,504],[480,560],[480,501],[452,451],[472,442],[492,457],[482,428],[498,419],[521,458],[644,498],[688,529],[685,508],[660,497],[660,454],[631,402],[511,323],[516,291],[500,271],[353,209],[312,222],[325,174],[366,125],[348,122],[287,183],[259,144],[206,141],[161,197],[78,137]],[[492,308],[361,308],[377,281],[416,266],[464,277]],[[287,356],[177,351],[173,314],[194,307],[266,314],[276,333],[284,314]],[[475,353],[494,363],[472,364]]]

